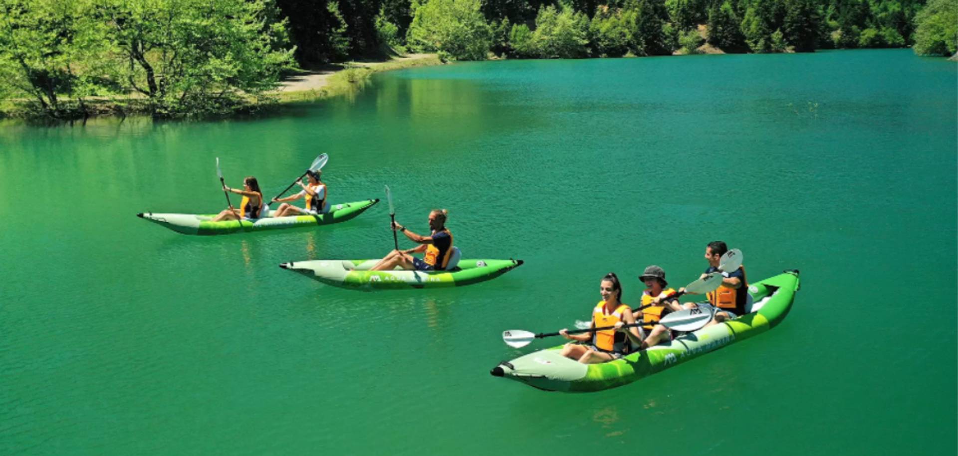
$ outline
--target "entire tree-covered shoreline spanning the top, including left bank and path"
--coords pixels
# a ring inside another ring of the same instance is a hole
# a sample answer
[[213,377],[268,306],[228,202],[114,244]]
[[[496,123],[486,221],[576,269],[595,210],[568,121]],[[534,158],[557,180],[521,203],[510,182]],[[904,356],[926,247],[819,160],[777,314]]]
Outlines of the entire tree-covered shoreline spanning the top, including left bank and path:
[[[208,117],[274,103],[299,68],[445,59],[952,55],[956,0],[0,0],[0,112]],[[105,106],[105,108],[104,108]]]

